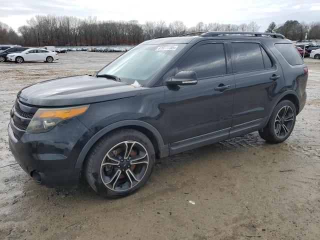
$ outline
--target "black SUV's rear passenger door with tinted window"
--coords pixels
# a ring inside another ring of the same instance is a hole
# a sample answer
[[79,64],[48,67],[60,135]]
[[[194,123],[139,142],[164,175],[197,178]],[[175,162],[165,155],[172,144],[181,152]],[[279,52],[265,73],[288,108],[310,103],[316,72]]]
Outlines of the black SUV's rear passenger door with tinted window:
[[261,128],[285,89],[282,68],[259,41],[229,41],[235,81],[230,137]]

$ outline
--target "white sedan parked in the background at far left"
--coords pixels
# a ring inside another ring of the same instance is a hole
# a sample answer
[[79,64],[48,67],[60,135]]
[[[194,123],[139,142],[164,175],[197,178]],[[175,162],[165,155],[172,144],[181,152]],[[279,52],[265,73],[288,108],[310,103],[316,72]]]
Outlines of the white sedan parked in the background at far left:
[[7,61],[15,61],[21,63],[23,61],[46,61],[52,62],[59,59],[56,52],[48,51],[41,48],[29,48],[22,52],[16,52],[6,55]]

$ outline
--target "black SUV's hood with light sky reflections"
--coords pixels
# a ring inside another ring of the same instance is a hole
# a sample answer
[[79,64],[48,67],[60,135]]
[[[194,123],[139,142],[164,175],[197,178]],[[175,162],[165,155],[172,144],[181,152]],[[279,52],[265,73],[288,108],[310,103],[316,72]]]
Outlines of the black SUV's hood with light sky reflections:
[[17,97],[31,105],[66,106],[131,97],[141,88],[104,77],[79,75],[27,86],[19,91]]

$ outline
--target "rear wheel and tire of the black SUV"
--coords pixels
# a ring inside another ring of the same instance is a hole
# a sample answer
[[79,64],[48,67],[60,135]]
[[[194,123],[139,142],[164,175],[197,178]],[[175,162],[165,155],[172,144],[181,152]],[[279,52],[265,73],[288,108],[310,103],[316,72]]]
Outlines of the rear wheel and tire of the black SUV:
[[259,135],[270,143],[282,142],[290,136],[295,117],[294,104],[289,100],[280,101],[273,109],[267,125],[258,131]]

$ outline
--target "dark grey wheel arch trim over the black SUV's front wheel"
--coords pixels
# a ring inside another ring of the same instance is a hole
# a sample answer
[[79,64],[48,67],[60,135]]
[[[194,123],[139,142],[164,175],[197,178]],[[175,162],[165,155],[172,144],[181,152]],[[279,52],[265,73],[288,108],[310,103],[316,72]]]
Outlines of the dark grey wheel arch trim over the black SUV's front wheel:
[[167,156],[169,153],[168,150],[168,145],[164,145],[163,139],[159,131],[152,126],[149,123],[146,123],[144,121],[140,120],[123,120],[123,121],[118,121],[115,123],[112,123],[101,130],[99,130],[97,133],[95,133],[84,145],[82,148],[76,163],[75,163],[75,168],[81,168],[84,162],[84,159],[91,149],[91,147],[94,145],[95,142],[97,142],[102,136],[105,134],[116,130],[116,129],[123,129],[123,128],[128,128],[128,129],[135,129],[143,134],[145,134],[150,141],[152,142],[152,145],[154,147],[154,151],[158,157],[164,157]]

